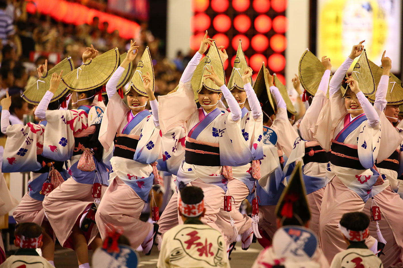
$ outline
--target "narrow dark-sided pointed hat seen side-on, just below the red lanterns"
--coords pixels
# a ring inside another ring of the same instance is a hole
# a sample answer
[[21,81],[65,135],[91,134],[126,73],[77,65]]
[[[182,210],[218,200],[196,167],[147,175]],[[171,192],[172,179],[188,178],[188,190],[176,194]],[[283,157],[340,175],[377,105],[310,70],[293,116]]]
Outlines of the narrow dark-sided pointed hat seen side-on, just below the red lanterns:
[[[270,111],[269,113],[276,112],[276,104],[273,101],[272,93],[270,92],[269,81],[266,73],[266,66],[264,62],[260,67],[258,76],[256,76],[255,84],[253,85],[253,90],[259,99],[262,110]],[[268,113],[268,112],[266,112]]]

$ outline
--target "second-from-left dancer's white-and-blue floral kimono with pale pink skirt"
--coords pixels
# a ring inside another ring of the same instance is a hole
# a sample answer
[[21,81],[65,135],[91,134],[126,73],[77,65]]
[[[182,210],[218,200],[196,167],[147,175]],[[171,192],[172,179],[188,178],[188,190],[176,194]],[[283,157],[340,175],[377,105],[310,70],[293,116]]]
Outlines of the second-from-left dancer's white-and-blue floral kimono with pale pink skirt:
[[[47,91],[42,101],[52,98]],[[104,163],[108,152],[98,142],[98,132],[103,114],[103,103],[96,106],[82,105],[72,110],[46,111],[47,124],[42,155],[56,161],[70,160],[71,178],[64,181],[43,201],[44,210],[54,233],[63,247],[73,248],[70,235],[75,224],[80,225],[83,215],[95,200],[92,197],[93,183],[100,183],[100,196],[104,193],[108,178],[108,165]],[[39,103],[35,115],[43,113]],[[46,107],[44,107],[46,108]],[[90,115],[90,116],[89,116]],[[91,125],[91,122],[94,124]],[[87,148],[87,149],[86,149]],[[82,171],[79,160],[86,150],[91,151],[95,170]],[[99,202],[99,200],[97,200]],[[88,245],[98,234],[93,225],[84,232]]]

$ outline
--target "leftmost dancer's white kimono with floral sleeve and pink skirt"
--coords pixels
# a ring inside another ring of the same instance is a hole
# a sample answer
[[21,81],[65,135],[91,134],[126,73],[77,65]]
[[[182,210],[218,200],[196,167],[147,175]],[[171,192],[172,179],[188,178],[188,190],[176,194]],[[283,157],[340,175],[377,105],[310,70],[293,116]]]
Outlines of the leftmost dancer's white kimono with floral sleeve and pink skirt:
[[[6,113],[4,116],[6,117]],[[10,126],[7,120],[2,120],[2,125],[8,125],[6,126],[7,141],[4,149],[2,171],[31,172],[28,181],[28,192],[25,193],[13,212],[13,217],[17,223],[33,222],[39,226],[42,225],[45,219],[42,206],[45,195],[42,194],[42,186],[46,182],[52,183],[50,171],[54,170],[52,175],[57,175],[54,172],[58,173],[57,179],[53,181],[53,188],[56,188],[62,181],[70,177],[64,168],[65,163],[63,161],[54,161],[42,155],[46,123],[46,121],[42,121],[39,124],[29,122],[26,126],[21,124]],[[50,162],[54,162],[52,167],[46,165]]]

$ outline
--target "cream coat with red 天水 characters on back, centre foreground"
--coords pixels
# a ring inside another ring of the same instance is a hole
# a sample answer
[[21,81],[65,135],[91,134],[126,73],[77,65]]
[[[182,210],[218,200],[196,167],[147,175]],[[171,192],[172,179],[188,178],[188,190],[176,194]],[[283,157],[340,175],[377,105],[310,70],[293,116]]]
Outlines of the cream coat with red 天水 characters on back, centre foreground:
[[199,223],[177,225],[165,233],[158,268],[230,267],[221,233]]

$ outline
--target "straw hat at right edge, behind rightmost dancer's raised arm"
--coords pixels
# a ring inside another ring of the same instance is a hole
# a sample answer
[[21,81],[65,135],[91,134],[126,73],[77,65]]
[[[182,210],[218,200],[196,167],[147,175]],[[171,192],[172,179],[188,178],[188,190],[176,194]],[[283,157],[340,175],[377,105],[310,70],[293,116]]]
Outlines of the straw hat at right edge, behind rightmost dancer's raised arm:
[[[383,68],[368,60],[372,73],[374,74],[375,86],[378,88],[380,78],[383,73]],[[368,97],[371,102],[375,101],[375,93]],[[386,101],[388,105],[399,105],[403,103],[403,84],[393,73],[389,73],[389,85],[386,91]]]

